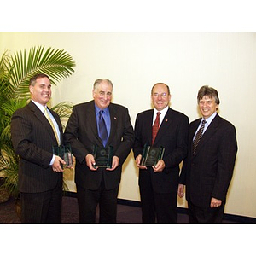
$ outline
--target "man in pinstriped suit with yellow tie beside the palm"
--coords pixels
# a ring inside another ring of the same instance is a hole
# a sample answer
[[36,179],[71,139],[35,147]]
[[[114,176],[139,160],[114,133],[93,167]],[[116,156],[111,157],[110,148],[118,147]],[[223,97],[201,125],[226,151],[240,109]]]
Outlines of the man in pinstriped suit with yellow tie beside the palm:
[[[11,121],[12,142],[15,153],[20,155],[18,188],[21,221],[60,223],[61,164],[65,161],[53,154],[53,146],[62,142],[61,120],[47,108],[51,84],[46,74],[32,77],[29,90],[32,101],[26,107],[18,109]],[[48,113],[54,128],[44,111]]]

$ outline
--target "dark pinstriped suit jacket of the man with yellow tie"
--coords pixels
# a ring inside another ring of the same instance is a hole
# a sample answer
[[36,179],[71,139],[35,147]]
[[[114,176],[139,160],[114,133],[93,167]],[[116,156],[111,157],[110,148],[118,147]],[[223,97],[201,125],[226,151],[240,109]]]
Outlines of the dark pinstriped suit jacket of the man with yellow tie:
[[[59,125],[62,142],[61,120],[55,112],[49,111]],[[53,172],[49,166],[52,147],[57,141],[49,121],[33,102],[13,114],[11,136],[15,153],[20,155],[20,192],[38,193],[54,189],[62,180],[62,173]]]

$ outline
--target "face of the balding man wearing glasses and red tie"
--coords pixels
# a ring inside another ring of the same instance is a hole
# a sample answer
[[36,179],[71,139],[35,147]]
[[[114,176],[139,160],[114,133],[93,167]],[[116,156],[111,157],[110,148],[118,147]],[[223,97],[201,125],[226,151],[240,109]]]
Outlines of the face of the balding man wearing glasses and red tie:
[[168,90],[165,84],[157,84],[154,86],[151,100],[154,108],[158,111],[166,108],[171,100],[171,95],[168,95]]

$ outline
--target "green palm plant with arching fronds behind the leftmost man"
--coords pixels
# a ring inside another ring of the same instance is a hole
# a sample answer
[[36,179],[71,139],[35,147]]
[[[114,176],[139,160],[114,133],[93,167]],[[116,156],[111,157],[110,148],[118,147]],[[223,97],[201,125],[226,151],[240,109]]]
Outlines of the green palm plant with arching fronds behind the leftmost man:
[[[70,76],[75,62],[63,49],[44,49],[44,46],[33,47],[9,55],[6,51],[0,59],[0,177],[2,189],[9,195],[18,195],[18,162],[11,143],[10,121],[16,109],[26,106],[30,99],[29,80],[36,73],[49,75],[51,84]],[[52,107],[61,119],[67,119],[72,104],[60,102]],[[0,194],[1,195],[1,194]],[[1,199],[0,199],[1,200]]]

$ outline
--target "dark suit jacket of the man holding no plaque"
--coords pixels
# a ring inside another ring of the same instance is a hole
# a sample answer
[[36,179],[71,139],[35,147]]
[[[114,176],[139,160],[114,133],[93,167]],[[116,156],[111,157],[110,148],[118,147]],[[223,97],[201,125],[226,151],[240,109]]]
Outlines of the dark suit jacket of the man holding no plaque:
[[212,197],[225,201],[236,160],[236,129],[217,114],[193,155],[193,137],[200,121],[189,125],[189,154],[183,162],[180,183],[186,185],[187,200],[209,207]]

